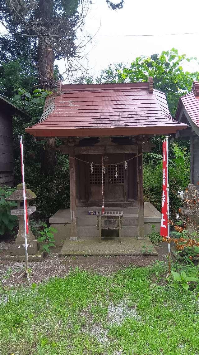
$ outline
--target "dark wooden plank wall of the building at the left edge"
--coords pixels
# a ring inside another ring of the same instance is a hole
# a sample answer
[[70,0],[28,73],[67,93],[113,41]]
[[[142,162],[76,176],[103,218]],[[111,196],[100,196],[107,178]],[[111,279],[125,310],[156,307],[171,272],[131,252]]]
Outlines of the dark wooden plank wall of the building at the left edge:
[[13,186],[12,113],[0,104],[0,186]]

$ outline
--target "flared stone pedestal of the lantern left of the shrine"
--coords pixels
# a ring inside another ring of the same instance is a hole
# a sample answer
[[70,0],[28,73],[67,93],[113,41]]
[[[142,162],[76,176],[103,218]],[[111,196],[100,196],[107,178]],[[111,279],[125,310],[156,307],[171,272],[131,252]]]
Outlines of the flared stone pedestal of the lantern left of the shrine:
[[[27,248],[29,255],[35,255],[38,251],[37,240],[33,235],[30,225],[29,225],[29,216],[35,212],[36,207],[30,206],[27,208],[28,212],[28,234],[27,234]],[[23,209],[11,209],[11,214],[16,215],[19,219],[19,230],[17,234],[17,239],[14,245],[11,246],[10,252],[13,255],[25,255],[25,231],[24,231],[24,210]]]

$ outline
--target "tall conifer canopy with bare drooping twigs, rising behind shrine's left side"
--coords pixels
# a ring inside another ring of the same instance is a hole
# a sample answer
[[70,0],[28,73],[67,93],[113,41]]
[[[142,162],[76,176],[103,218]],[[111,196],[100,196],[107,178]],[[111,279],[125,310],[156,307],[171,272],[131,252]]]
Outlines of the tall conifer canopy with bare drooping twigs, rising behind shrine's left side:
[[[112,10],[123,0],[106,0]],[[90,0],[0,0],[0,22],[7,32],[0,37],[0,59],[30,60],[36,66],[39,85],[53,89],[54,60],[64,59],[68,77],[81,68],[80,59],[92,39],[84,33]],[[86,35],[86,36],[85,36]]]

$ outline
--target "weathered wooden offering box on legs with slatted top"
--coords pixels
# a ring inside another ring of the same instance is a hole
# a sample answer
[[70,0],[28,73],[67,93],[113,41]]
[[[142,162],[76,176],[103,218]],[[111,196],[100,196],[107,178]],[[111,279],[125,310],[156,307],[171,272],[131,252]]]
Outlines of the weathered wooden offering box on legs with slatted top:
[[104,214],[97,211],[100,243],[102,230],[118,230],[119,242],[121,242],[122,217],[123,211],[105,211]]

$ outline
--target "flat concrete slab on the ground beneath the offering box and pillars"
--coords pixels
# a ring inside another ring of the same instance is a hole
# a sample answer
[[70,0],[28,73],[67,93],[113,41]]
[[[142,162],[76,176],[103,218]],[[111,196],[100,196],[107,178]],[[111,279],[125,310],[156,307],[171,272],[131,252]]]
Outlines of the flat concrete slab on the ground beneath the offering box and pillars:
[[[144,246],[144,248],[142,248]],[[148,255],[158,255],[150,239],[138,240],[135,237],[123,237],[122,242],[118,238],[104,239],[99,243],[96,237],[82,237],[76,241],[67,238],[59,255],[67,256],[99,256],[99,255],[143,255],[142,251],[148,251]]]

